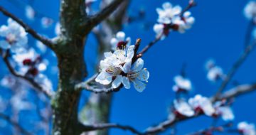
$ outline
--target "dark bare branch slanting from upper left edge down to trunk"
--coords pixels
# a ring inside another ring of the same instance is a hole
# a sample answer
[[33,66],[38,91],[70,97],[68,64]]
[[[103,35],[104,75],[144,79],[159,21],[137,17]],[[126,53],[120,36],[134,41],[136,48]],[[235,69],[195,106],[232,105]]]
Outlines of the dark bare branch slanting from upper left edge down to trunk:
[[18,24],[20,24],[25,29],[25,31],[27,33],[31,34],[31,36],[36,38],[38,41],[41,41],[43,44],[47,45],[49,48],[53,49],[54,43],[52,41],[50,41],[50,39],[48,39],[48,38],[46,38],[44,36],[41,36],[39,33],[37,33],[35,30],[33,30],[33,28],[31,28],[26,23],[21,21],[21,19],[19,19],[18,17],[14,16],[14,14],[10,13],[9,11],[6,11],[6,9],[4,9],[2,6],[0,6],[0,11],[5,16],[9,16],[14,21],[16,21]]

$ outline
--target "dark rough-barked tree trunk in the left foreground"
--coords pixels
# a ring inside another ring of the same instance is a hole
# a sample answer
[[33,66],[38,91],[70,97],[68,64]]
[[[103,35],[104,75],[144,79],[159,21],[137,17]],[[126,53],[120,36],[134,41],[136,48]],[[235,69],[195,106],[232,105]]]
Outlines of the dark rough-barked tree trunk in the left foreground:
[[62,0],[60,6],[61,35],[56,39],[55,53],[58,58],[58,90],[52,100],[52,134],[80,134],[78,103],[80,91],[75,84],[86,77],[84,60],[85,35],[80,31],[80,23],[86,17],[85,1]]

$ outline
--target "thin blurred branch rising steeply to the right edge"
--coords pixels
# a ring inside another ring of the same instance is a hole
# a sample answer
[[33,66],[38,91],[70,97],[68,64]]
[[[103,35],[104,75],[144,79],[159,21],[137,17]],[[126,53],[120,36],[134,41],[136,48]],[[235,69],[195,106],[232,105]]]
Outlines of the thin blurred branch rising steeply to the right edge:
[[230,80],[232,79],[232,77],[235,75],[235,72],[237,72],[238,68],[240,68],[240,66],[242,65],[242,63],[245,62],[247,56],[252,52],[252,50],[255,48],[256,46],[256,41],[254,41],[252,43],[252,45],[248,45],[244,52],[242,53],[242,55],[240,56],[240,58],[238,58],[238,60],[235,62],[235,64],[233,65],[233,67],[230,69],[230,71],[228,72],[228,75],[225,77],[225,80],[223,80],[222,84],[220,85],[220,88],[218,89],[218,92],[215,95],[215,98],[218,98],[221,95],[221,92],[223,92],[223,90],[225,89],[225,87],[228,85],[228,82],[230,82]]

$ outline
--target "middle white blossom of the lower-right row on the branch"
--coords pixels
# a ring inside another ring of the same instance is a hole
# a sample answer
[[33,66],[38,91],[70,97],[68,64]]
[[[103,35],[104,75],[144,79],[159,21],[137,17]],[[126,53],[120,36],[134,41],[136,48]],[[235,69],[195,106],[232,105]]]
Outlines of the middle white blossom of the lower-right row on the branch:
[[201,95],[196,95],[195,97],[188,99],[188,104],[190,104],[196,112],[203,111],[203,113],[209,117],[211,117],[215,112],[210,99],[202,97]]

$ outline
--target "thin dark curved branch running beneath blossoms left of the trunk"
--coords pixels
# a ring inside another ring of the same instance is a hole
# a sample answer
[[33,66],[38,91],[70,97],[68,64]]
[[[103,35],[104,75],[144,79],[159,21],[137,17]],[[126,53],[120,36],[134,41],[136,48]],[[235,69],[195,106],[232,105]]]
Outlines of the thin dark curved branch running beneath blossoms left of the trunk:
[[14,68],[11,66],[11,63],[9,62],[8,57],[9,57],[9,51],[7,50],[3,59],[4,59],[4,63],[6,63],[6,66],[12,75],[14,75],[15,77],[21,78],[23,80],[26,80],[29,84],[35,87],[36,90],[43,92],[47,97],[51,97],[53,95],[53,93],[50,92],[50,90],[44,90],[41,85],[39,85],[37,82],[35,82],[35,80],[31,79],[30,77],[26,77],[24,75],[18,74],[18,72],[16,72],[16,70],[14,70]]

